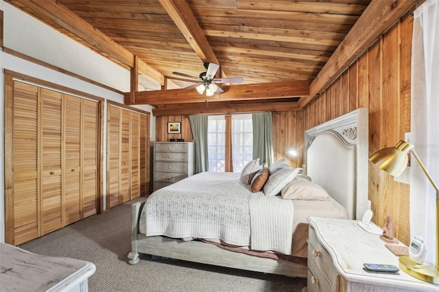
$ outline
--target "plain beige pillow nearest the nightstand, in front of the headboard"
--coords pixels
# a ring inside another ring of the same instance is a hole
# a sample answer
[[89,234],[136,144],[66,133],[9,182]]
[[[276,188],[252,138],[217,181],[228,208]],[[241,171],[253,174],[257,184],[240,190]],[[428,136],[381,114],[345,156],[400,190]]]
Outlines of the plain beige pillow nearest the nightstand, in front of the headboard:
[[284,188],[281,195],[283,199],[303,199],[325,201],[329,194],[318,184],[309,180],[294,179]]

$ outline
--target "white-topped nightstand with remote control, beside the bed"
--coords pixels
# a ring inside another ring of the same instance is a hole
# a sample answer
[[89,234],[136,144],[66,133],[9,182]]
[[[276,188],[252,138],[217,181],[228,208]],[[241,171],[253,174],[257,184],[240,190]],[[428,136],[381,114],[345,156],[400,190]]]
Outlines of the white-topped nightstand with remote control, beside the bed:
[[309,217],[307,291],[439,291],[404,271],[379,273],[364,263],[398,267],[398,257],[379,235],[360,228],[355,220]]

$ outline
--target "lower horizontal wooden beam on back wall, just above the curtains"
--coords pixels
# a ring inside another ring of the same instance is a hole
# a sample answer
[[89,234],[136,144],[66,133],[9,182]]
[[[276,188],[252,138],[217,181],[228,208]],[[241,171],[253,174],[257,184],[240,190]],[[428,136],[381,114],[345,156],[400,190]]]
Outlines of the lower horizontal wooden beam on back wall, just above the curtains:
[[186,114],[245,114],[248,112],[282,112],[288,110],[299,110],[296,101],[252,103],[252,104],[220,104],[219,102],[203,102],[194,106],[178,108],[154,108],[154,117],[174,116]]

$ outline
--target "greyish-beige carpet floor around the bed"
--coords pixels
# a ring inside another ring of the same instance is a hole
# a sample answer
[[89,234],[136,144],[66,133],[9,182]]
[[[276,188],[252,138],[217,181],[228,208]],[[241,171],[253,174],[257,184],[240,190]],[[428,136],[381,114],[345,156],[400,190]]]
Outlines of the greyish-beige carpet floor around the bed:
[[[142,198],[140,198],[142,199]],[[139,200],[139,199],[137,199]],[[131,204],[131,202],[129,202]],[[131,206],[122,204],[20,245],[23,250],[96,265],[89,291],[301,291],[305,278],[241,271],[142,255],[128,265]]]

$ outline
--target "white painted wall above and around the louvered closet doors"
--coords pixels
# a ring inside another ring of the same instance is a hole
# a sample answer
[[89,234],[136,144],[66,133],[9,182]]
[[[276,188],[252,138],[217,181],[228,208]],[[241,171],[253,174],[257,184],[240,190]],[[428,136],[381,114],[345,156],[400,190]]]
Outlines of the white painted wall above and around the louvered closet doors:
[[[12,5],[0,0],[3,10],[3,45],[32,58],[47,62],[64,70],[86,77],[100,84],[115,88],[122,92],[130,91],[130,72],[110,60],[91,51],[56,32],[55,29],[37,21],[32,16],[21,12]],[[123,103],[123,95],[114,91],[78,80],[58,71],[47,69],[27,60],[17,58],[0,51],[0,189],[4,190],[4,69],[36,77],[40,80],[59,84],[67,88],[80,90],[84,93],[102,97],[106,100]],[[106,102],[104,121],[106,121]],[[151,106],[137,106],[152,112]],[[155,140],[155,119],[151,115],[151,137]],[[106,123],[104,123],[104,141],[106,141]],[[106,145],[104,145],[104,164],[106,162]],[[104,165],[106,173],[106,165]],[[106,175],[104,177],[104,195],[106,193]],[[5,242],[4,191],[0,192],[0,242]]]

